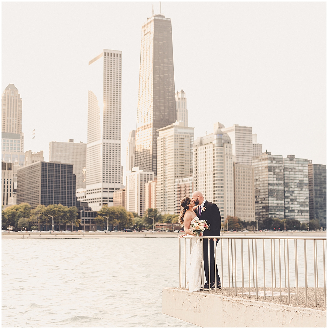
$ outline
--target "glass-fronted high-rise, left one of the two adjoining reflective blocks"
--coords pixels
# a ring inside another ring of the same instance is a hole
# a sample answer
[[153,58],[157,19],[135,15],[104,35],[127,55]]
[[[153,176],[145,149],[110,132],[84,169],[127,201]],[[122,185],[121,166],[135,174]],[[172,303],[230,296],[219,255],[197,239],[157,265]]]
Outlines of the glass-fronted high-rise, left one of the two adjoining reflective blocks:
[[284,160],[282,155],[264,152],[253,157],[255,218],[283,219],[284,209]]

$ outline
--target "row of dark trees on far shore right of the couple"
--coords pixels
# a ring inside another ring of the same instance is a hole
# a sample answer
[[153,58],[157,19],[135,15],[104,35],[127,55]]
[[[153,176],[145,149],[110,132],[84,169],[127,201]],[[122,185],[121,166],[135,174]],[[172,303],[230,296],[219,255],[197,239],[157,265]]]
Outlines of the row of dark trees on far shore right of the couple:
[[[222,224],[223,228],[227,228],[228,222],[228,230],[230,231],[241,231],[242,229],[248,230],[256,230],[256,221],[242,221],[240,218],[235,216],[227,216],[225,222]],[[286,225],[286,226],[285,226]],[[300,222],[297,219],[279,219],[267,217],[263,221],[257,222],[258,230],[271,230],[271,231],[284,231],[286,227],[286,231],[294,231],[294,230],[302,230],[307,231],[315,231],[320,229],[320,224],[317,219],[311,219],[309,222]]]

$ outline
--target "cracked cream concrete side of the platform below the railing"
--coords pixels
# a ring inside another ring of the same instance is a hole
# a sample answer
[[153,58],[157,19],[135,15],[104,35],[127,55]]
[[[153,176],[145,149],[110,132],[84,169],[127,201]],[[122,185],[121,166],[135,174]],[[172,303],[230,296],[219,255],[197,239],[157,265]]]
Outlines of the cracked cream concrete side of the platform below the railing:
[[201,327],[326,327],[326,312],[178,288],[163,289],[164,314]]

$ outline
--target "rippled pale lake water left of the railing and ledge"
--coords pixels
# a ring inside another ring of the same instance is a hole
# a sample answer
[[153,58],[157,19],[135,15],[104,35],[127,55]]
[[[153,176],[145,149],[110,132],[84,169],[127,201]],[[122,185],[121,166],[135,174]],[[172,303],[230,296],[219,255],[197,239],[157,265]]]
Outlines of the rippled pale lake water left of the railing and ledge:
[[195,327],[162,314],[176,238],[2,240],[4,327]]

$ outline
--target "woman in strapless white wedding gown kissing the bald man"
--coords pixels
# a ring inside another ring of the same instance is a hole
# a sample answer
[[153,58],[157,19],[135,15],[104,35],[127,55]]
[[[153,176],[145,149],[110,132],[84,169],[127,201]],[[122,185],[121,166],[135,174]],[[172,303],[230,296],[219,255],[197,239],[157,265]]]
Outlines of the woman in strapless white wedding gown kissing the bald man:
[[[179,223],[181,224],[181,226],[184,226],[185,234],[181,235],[179,238],[182,238],[184,236],[195,236],[195,234],[191,233],[189,229],[190,224],[193,221],[198,220],[197,215],[193,211],[195,203],[189,197],[186,196],[181,200],[180,205],[181,207],[183,207],[183,209],[180,212]],[[203,233],[200,234],[200,236],[202,235]],[[191,243],[193,242],[192,240],[196,239],[187,240],[190,240]],[[186,289],[189,289],[189,291],[199,291],[200,287],[202,286],[201,270],[203,248],[200,239],[197,239],[197,243],[193,243],[193,245],[194,246],[191,250],[186,264]]]

